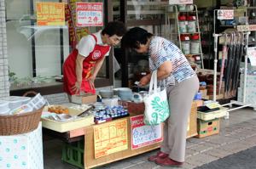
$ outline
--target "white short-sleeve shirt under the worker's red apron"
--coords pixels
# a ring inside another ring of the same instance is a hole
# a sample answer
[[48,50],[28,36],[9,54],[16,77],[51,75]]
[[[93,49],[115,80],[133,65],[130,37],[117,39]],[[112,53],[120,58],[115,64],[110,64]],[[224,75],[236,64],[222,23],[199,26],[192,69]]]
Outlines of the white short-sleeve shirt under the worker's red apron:
[[[86,58],[93,51],[96,44],[101,46],[107,45],[107,44],[103,44],[101,34],[102,34],[102,31],[93,33],[93,35],[96,36],[97,43],[94,37],[92,37],[91,35],[82,37],[81,40],[79,41],[79,44],[76,46],[76,48],[79,50],[79,54]],[[105,54],[105,56],[109,55],[109,51],[107,54]]]

